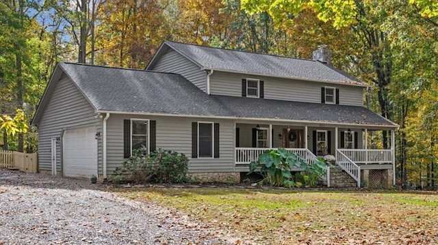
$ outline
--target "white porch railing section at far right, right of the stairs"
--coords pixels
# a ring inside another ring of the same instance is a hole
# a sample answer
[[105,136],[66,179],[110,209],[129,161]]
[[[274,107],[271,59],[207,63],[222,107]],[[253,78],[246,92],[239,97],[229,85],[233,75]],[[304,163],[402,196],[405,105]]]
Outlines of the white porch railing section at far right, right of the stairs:
[[339,152],[359,164],[392,163],[390,149],[339,149]]

